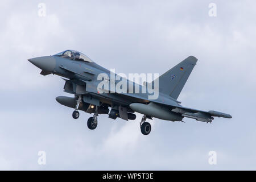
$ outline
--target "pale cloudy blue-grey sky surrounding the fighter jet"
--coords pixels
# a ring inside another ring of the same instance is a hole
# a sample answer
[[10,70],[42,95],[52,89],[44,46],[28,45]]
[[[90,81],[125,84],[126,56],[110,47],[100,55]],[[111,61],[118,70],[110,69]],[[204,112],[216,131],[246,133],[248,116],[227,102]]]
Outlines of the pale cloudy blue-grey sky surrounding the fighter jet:
[[[45,16],[42,6],[46,5]],[[216,16],[209,16],[209,4]],[[255,170],[255,1],[1,1],[0,169]],[[162,73],[197,57],[178,100],[232,119],[212,124],[154,118],[150,135],[135,121],[56,102],[59,76],[27,59],[75,49],[116,73]],[[39,165],[39,151],[46,164]],[[216,164],[209,164],[209,152]]]

